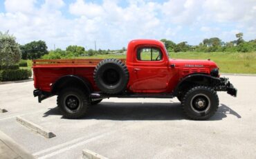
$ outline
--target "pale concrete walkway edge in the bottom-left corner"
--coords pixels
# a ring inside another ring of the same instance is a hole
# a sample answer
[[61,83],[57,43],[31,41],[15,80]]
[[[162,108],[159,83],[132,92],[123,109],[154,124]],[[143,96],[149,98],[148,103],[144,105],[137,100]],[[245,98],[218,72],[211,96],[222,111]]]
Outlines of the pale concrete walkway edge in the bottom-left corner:
[[[0,152],[1,149],[4,150],[3,156],[0,155],[0,158],[10,156],[17,156],[17,158],[24,158],[24,159],[35,159],[33,155],[31,155],[26,149],[22,148],[19,144],[17,144],[12,138],[8,135],[0,131]],[[6,155],[6,156],[4,156]]]

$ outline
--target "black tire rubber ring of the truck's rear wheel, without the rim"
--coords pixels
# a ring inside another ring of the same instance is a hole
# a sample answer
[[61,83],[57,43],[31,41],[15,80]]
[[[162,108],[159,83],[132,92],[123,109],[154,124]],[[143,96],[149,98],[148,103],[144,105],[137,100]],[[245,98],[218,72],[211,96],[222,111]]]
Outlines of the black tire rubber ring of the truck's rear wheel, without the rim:
[[[63,108],[62,95],[64,95],[64,93],[66,92],[75,92],[81,95],[83,105],[82,105],[82,109],[80,109],[79,112],[75,114],[71,114],[66,112],[66,110]],[[68,119],[82,118],[84,117],[84,115],[86,115],[86,112],[88,111],[89,106],[90,106],[89,98],[86,97],[86,94],[82,90],[80,90],[80,88],[75,88],[75,87],[64,88],[62,91],[60,91],[60,94],[57,95],[57,107],[60,109],[60,111],[62,112],[62,115],[64,115],[65,118],[68,118]]]

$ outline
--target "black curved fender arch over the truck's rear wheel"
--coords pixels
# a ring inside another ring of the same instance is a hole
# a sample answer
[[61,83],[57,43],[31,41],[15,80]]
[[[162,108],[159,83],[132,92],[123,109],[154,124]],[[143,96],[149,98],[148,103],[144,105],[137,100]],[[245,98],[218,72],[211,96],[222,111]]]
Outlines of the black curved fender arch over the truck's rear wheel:
[[51,93],[56,95],[62,90],[62,88],[66,88],[66,86],[82,88],[82,91],[86,94],[90,94],[92,92],[91,83],[84,77],[80,77],[78,75],[64,75],[57,79],[52,85]]

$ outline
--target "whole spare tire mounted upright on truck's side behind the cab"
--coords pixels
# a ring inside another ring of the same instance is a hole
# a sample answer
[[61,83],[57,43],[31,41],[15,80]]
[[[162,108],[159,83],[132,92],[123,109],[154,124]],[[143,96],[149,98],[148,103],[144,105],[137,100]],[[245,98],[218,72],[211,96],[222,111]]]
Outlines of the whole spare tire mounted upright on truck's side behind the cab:
[[120,59],[103,59],[96,66],[93,77],[102,92],[118,94],[127,88],[129,72]]

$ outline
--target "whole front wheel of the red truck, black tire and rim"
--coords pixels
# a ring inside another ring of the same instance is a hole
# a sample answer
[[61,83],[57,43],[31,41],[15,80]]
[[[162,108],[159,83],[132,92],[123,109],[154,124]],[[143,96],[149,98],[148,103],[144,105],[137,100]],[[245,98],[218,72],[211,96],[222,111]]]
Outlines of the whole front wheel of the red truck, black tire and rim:
[[185,93],[181,102],[183,111],[192,120],[206,120],[217,111],[219,97],[208,86],[194,86]]

